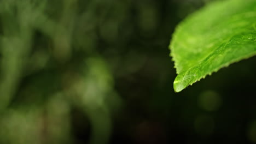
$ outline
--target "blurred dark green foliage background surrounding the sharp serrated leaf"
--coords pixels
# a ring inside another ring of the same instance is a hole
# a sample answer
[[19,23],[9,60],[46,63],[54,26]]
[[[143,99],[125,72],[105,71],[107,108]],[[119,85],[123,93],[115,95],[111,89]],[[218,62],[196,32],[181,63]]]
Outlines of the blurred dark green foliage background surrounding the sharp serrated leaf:
[[170,35],[207,3],[0,1],[0,143],[255,142],[255,58],[173,92]]

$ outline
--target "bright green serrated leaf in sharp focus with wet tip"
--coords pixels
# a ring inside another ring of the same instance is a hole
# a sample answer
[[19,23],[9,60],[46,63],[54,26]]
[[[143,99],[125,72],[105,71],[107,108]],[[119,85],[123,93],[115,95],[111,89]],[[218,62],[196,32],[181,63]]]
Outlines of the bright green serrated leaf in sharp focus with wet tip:
[[173,83],[175,92],[256,55],[256,1],[208,4],[178,25],[170,49],[178,74]]

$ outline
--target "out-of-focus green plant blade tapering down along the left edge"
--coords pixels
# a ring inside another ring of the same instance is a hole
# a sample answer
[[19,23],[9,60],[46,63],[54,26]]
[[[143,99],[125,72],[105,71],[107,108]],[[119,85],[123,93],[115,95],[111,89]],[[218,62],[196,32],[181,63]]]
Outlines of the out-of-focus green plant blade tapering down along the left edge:
[[34,18],[39,12],[34,10],[33,4],[30,1],[2,1],[0,4],[3,23],[0,111],[15,94],[31,50]]

